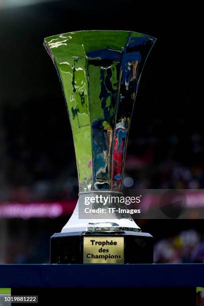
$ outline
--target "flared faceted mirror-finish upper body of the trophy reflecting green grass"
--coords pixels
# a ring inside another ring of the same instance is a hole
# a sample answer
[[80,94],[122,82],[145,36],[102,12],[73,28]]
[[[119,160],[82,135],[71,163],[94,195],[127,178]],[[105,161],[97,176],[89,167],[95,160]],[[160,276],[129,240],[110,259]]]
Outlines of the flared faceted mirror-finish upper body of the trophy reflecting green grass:
[[121,191],[138,82],[154,42],[137,32],[103,30],[44,39],[67,104],[79,192]]

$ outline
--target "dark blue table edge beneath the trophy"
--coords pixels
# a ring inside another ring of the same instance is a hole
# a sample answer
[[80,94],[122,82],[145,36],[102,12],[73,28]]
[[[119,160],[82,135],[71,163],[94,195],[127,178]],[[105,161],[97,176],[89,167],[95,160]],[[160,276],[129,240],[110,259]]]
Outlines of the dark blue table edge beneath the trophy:
[[0,287],[177,286],[204,287],[204,264],[0,264]]

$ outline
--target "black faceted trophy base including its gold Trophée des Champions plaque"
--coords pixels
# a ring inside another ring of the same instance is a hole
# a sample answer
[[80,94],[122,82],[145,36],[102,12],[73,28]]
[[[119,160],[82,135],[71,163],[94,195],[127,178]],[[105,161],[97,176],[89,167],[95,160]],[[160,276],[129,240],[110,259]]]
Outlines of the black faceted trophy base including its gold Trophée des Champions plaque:
[[153,237],[135,231],[55,233],[50,263],[153,263]]

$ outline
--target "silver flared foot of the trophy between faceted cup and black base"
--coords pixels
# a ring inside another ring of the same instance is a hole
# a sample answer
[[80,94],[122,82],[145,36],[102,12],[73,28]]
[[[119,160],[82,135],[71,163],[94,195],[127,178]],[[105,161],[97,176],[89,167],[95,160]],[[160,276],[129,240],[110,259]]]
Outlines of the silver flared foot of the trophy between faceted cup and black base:
[[[122,193],[114,191],[80,192],[76,207],[61,232],[140,231],[119,202],[121,196]],[[95,201],[91,203],[90,199]]]

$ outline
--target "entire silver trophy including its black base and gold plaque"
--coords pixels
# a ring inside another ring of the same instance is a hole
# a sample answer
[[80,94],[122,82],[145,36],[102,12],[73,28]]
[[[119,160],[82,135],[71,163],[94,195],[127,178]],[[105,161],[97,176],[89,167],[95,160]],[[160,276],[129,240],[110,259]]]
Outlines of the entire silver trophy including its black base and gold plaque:
[[134,100],[155,40],[114,30],[44,39],[67,105],[79,181],[72,216],[50,238],[51,263],[153,261],[152,236],[141,232],[125,209],[118,211]]

